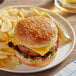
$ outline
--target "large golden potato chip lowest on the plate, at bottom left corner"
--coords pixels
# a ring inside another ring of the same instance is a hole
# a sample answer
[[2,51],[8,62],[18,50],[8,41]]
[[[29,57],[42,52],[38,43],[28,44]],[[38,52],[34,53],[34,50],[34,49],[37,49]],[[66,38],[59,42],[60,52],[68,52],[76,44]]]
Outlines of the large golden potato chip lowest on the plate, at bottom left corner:
[[15,56],[9,56],[6,59],[0,59],[0,67],[13,69],[16,65],[19,65],[19,59]]

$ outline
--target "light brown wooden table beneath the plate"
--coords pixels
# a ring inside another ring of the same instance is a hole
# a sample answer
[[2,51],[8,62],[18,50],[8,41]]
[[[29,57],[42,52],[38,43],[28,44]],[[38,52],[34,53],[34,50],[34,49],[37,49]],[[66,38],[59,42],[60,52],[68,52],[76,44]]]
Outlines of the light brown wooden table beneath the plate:
[[[2,4],[0,4],[0,8],[11,5],[33,5],[50,9],[50,11],[56,12],[65,17],[71,23],[74,31],[76,32],[76,14],[65,13],[58,10],[54,6],[54,1],[52,0],[5,0]],[[74,59],[76,59],[76,47],[74,47],[72,53],[68,56],[67,59],[52,69],[34,74],[13,74],[0,71],[0,76],[54,76],[54,74],[56,74],[59,70],[61,70]]]

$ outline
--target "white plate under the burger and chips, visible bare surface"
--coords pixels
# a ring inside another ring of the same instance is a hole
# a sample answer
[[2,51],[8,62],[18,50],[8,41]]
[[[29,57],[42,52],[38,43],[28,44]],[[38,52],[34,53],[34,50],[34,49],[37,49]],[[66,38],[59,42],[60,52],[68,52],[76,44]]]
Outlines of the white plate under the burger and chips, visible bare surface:
[[[13,6],[16,8],[25,8],[25,9],[29,9],[30,7],[33,6]],[[35,7],[38,8],[38,7]],[[52,17],[54,17],[62,26],[64,26],[67,29],[67,32],[69,33],[69,35],[72,38],[72,41],[66,45],[64,45],[63,47],[60,47],[58,49],[57,55],[55,60],[50,63],[47,66],[44,67],[31,67],[31,66],[27,66],[27,65],[18,65],[16,66],[13,70],[7,70],[7,69],[2,69],[0,68],[0,70],[3,71],[7,71],[7,72],[14,72],[14,73],[34,73],[34,72],[39,72],[39,71],[43,71],[49,68],[52,68],[56,65],[58,65],[59,63],[61,63],[64,59],[66,59],[68,57],[68,55],[72,52],[73,47],[75,45],[75,33],[71,27],[71,25],[60,15],[55,14],[53,12],[50,12],[49,10],[43,9],[43,8],[38,8],[40,11],[46,11],[48,12]]]

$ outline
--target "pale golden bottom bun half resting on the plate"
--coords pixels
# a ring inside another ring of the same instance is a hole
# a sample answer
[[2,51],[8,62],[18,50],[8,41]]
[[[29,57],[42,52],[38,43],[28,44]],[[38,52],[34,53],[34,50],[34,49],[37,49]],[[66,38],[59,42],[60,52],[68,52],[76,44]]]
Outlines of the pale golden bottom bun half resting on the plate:
[[47,57],[45,59],[39,58],[39,59],[35,59],[33,61],[31,58],[24,58],[24,56],[22,56],[18,51],[15,51],[15,53],[21,63],[30,65],[30,66],[35,66],[35,67],[41,67],[41,66],[48,65],[55,59],[55,56],[56,56],[56,54],[55,54],[52,57]]

